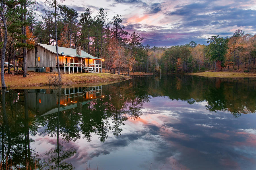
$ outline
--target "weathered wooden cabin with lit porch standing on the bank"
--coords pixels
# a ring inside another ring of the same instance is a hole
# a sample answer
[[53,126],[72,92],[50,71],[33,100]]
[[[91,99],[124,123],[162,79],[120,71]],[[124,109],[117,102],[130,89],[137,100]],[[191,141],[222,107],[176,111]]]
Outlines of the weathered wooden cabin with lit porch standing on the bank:
[[[103,59],[77,49],[58,47],[59,65],[65,73],[101,72]],[[16,67],[23,69],[23,54],[16,56]],[[51,72],[57,70],[56,46],[37,43],[27,51],[28,71]]]

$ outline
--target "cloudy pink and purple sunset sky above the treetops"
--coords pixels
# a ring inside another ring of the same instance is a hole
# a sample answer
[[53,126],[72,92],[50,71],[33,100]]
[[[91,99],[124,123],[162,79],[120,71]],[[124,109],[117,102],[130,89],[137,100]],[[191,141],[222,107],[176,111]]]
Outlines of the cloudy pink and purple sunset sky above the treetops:
[[[38,0],[38,12],[44,0]],[[150,47],[183,45],[191,41],[207,44],[210,36],[232,36],[241,29],[256,33],[256,0],[65,0],[69,8],[84,12],[89,7],[95,16],[100,8],[109,20],[119,14],[129,33],[144,37]]]

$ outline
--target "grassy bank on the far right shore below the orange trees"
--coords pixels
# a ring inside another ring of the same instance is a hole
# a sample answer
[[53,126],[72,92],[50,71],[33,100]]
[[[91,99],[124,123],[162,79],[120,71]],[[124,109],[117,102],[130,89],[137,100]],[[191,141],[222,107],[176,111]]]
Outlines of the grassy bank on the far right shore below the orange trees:
[[219,77],[219,78],[256,77],[256,73],[233,72],[233,71],[197,72],[197,73],[191,73],[191,74],[197,75],[197,76]]

